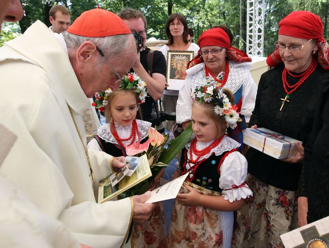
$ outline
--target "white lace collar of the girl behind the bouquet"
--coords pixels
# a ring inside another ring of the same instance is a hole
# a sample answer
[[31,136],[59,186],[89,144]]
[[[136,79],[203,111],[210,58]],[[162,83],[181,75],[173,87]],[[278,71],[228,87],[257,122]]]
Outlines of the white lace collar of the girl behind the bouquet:
[[[136,121],[138,126],[138,132],[140,133],[140,140],[142,140],[148,136],[148,128],[151,126],[151,123],[142,120],[136,120]],[[132,134],[133,124],[130,124],[129,126],[124,126],[114,122],[114,125],[116,132],[118,133],[121,139],[126,139]],[[118,145],[116,139],[113,137],[113,134],[111,133],[110,123],[101,125],[97,130],[97,135],[107,142]],[[137,141],[138,141],[138,137],[136,137],[135,142]],[[123,141],[122,143],[126,146],[131,143],[131,140]]]

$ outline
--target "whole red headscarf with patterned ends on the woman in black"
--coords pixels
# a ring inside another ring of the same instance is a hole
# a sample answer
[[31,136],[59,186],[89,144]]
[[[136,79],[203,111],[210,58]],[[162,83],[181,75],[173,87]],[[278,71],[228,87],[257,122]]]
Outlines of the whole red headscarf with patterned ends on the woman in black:
[[[323,38],[323,24],[320,17],[308,11],[293,11],[279,22],[278,34],[301,39],[316,39],[319,47],[318,62],[323,69],[329,69],[329,47],[327,40]],[[266,62],[270,67],[281,64],[279,50],[275,49]]]

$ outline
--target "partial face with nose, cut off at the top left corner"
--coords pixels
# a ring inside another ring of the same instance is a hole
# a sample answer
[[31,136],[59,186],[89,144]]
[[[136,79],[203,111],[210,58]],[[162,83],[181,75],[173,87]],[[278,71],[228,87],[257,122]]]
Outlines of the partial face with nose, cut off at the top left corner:
[[17,22],[23,17],[20,0],[0,0],[0,31],[3,21]]

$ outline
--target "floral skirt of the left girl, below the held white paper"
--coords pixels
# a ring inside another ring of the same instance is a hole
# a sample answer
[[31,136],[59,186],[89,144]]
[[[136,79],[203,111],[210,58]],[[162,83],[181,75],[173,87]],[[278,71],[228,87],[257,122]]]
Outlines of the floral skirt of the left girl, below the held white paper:
[[132,239],[132,248],[167,248],[163,201],[157,203],[146,223],[133,226]]

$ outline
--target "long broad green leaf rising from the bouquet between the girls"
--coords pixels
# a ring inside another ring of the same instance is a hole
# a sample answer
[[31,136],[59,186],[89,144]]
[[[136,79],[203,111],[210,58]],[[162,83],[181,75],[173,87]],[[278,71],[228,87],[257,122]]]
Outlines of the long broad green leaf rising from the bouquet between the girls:
[[169,164],[171,160],[185,147],[192,135],[192,122],[188,127],[175,139],[170,140],[168,148],[161,153],[158,162]]

